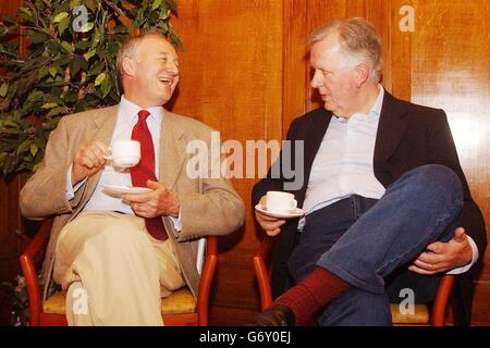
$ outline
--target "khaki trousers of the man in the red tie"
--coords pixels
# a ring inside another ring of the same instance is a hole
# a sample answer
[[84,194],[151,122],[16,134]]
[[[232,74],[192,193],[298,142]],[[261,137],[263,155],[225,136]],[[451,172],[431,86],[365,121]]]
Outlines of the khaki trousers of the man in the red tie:
[[61,231],[53,278],[69,325],[163,325],[161,298],[185,285],[169,239],[142,217],[84,211]]

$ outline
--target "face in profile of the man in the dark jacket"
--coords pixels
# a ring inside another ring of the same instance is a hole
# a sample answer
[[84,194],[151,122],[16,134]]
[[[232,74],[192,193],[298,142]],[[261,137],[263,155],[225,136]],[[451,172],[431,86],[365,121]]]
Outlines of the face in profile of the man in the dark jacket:
[[357,72],[343,53],[336,35],[311,45],[310,64],[315,71],[311,87],[318,89],[324,109],[338,116],[348,117],[355,111]]

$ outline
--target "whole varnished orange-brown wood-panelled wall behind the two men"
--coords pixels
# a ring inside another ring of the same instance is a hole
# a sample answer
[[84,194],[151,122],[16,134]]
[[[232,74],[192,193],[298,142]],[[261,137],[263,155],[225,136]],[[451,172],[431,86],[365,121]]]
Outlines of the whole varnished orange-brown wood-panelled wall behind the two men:
[[[20,2],[2,1],[0,12],[12,13]],[[414,10],[414,32],[400,30],[402,5]],[[172,23],[184,50],[173,110],[219,129],[222,141],[242,144],[281,139],[294,117],[318,105],[309,87],[308,33],[330,18],[367,17],[384,44],[384,87],[399,98],[446,111],[471,192],[490,225],[488,0],[185,0],[179,9]],[[249,202],[256,181],[233,179],[247,219],[220,241],[215,325],[247,323],[259,308],[252,256],[261,232]],[[0,257],[16,252],[19,187],[20,181],[0,185],[0,246],[10,240],[0,247]],[[480,257],[487,265],[477,281],[474,324],[488,325],[490,254]],[[0,273],[7,265],[1,262]]]

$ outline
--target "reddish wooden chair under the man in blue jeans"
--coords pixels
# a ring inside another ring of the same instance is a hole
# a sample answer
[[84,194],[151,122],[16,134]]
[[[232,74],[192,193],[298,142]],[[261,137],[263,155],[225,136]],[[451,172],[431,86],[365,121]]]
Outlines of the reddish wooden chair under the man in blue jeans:
[[[254,270],[259,286],[260,307],[262,311],[272,303],[270,272],[267,261],[271,254],[274,240],[274,237],[266,236],[254,256]],[[453,275],[446,274],[441,278],[430,314],[429,309],[425,304],[415,304],[415,313],[413,314],[402,314],[397,304],[391,304],[393,325],[444,326],[445,311],[453,282]]]

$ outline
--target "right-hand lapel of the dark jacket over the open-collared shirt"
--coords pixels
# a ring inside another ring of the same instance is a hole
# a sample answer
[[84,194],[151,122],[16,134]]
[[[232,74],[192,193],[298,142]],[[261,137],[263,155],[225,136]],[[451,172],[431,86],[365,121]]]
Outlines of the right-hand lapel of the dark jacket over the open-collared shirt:
[[375,145],[375,166],[385,162],[396,150],[408,124],[403,103],[384,91]]

